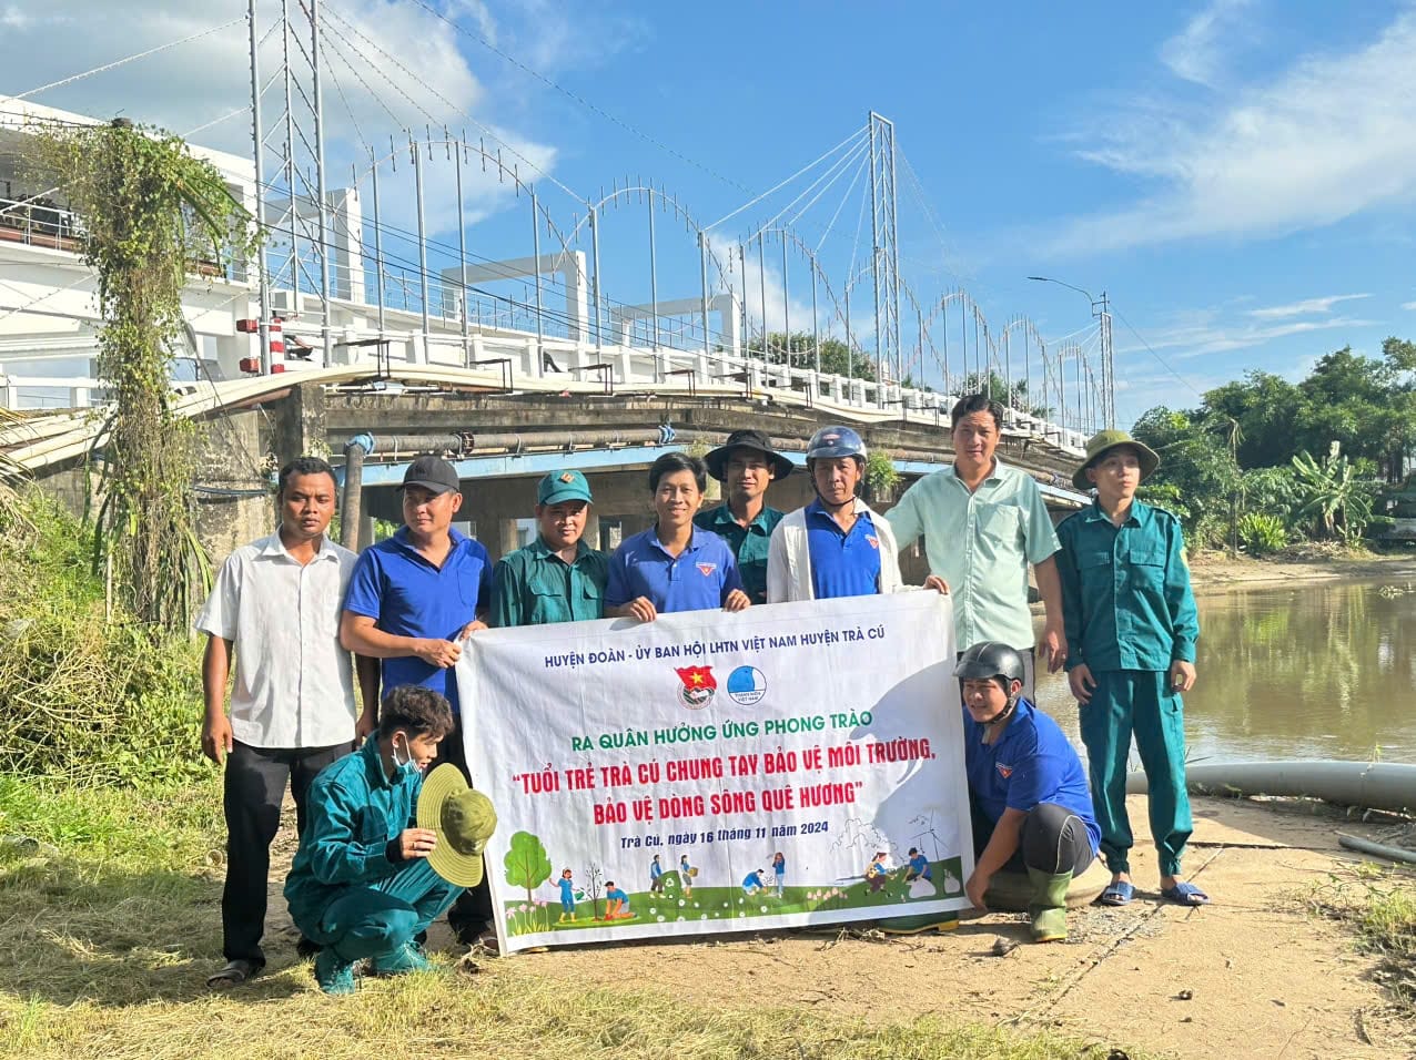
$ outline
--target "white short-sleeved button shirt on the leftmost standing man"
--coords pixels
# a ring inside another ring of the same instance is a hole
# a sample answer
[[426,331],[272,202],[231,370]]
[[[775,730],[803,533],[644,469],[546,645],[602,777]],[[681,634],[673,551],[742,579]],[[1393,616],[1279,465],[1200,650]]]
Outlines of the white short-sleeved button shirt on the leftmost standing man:
[[235,645],[231,734],[251,747],[333,747],[354,739],[340,604],[355,555],[329,538],[302,565],[279,534],[227,556],[195,626]]

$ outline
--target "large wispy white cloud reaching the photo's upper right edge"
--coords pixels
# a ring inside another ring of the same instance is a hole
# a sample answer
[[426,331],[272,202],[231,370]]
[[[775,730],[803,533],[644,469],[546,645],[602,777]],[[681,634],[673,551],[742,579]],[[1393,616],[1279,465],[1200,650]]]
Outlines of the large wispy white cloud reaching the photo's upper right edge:
[[1416,10],[1368,45],[1311,55],[1233,92],[1218,113],[1114,115],[1083,159],[1155,190],[1075,218],[1044,245],[1096,253],[1204,236],[1281,235],[1416,198]]

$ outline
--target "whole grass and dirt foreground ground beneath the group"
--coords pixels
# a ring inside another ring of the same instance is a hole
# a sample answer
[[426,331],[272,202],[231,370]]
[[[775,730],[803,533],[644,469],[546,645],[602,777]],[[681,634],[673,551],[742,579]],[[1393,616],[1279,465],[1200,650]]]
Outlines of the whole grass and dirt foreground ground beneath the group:
[[[1126,909],[1075,911],[1065,944],[1028,944],[1024,917],[990,914],[947,935],[731,935],[469,962],[438,926],[439,974],[331,999],[295,960],[279,896],[290,822],[272,866],[268,974],[212,995],[219,783],[150,801],[64,795],[62,812],[40,801],[0,791],[0,832],[41,841],[0,846],[6,1056],[1138,1060],[1416,1047],[1392,978],[1409,969],[1361,952],[1330,916],[1374,886],[1416,894],[1413,877],[1364,869],[1337,845],[1338,828],[1386,838],[1379,826],[1308,804],[1197,800],[1187,869],[1215,901],[1191,910],[1153,893],[1144,805],[1131,800],[1143,890]],[[35,835],[41,821],[50,831]]]

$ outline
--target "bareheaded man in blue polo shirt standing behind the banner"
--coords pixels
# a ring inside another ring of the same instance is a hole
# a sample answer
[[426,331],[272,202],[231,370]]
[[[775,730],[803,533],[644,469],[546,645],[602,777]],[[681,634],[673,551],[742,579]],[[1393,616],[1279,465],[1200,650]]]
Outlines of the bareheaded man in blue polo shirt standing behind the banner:
[[707,485],[708,470],[698,457],[664,453],[650,466],[657,518],[610,556],[606,618],[647,623],[674,611],[741,611],[752,603],[728,543],[694,526]]

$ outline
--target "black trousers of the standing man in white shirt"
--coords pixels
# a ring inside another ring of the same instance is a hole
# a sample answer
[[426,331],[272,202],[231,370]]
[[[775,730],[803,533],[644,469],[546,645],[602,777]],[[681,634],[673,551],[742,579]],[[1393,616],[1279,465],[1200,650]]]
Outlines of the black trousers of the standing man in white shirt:
[[265,964],[266,889],[270,883],[270,842],[280,831],[285,787],[295,795],[296,826],[304,832],[304,807],[310,781],[331,761],[354,749],[269,749],[232,742],[227,754],[227,886],[221,892],[222,952],[228,961]]

